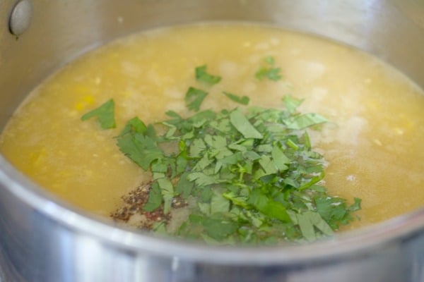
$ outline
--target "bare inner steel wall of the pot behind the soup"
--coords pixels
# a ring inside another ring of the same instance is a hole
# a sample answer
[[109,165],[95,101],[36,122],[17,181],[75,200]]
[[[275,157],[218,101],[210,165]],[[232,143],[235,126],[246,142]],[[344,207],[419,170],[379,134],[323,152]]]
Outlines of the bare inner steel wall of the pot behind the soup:
[[42,0],[33,1],[30,27],[19,37],[8,28],[16,2],[0,3],[0,130],[33,87],[84,51],[131,32],[199,20],[257,21],[336,39],[379,56],[424,86],[424,2]]

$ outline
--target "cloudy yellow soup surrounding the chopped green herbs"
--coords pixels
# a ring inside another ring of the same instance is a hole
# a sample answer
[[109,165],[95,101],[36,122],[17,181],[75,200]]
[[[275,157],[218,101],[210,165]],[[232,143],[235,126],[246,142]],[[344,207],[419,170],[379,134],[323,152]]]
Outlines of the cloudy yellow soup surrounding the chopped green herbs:
[[[258,80],[272,57],[281,80]],[[274,27],[205,24],[133,35],[91,51],[54,74],[16,111],[0,139],[1,153],[20,171],[59,197],[110,216],[121,197],[150,178],[116,145],[126,121],[162,121],[181,115],[194,68],[207,64],[222,76],[201,109],[237,106],[228,91],[250,104],[282,106],[290,94],[299,110],[331,121],[310,131],[324,154],[332,195],[362,199],[367,226],[424,203],[424,95],[396,70],[367,54],[325,39]],[[117,128],[100,130],[81,116],[109,99]]]

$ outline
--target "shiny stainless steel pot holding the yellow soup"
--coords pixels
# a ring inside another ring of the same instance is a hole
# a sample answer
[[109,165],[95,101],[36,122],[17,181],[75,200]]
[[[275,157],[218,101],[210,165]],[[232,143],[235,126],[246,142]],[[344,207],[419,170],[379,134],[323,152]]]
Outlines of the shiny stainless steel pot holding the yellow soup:
[[[0,19],[0,130],[30,90],[83,52],[196,21],[334,39],[424,87],[423,1],[3,0]],[[117,228],[57,199],[0,155],[0,281],[424,281],[424,209],[310,245],[213,247]]]

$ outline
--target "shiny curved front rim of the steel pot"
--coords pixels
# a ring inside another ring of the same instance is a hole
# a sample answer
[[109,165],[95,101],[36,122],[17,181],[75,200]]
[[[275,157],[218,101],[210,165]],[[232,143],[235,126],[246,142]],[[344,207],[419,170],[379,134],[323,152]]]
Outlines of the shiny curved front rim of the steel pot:
[[[341,257],[361,255],[416,235],[424,229],[424,208],[396,216],[355,231],[346,231],[334,238],[305,245],[281,247],[211,246],[201,243],[151,235],[136,228],[118,227],[101,216],[89,214],[40,188],[0,154],[0,187],[8,190],[35,211],[54,219],[61,226],[93,235],[102,243],[131,252],[160,257],[188,259],[230,265],[270,265],[312,263]],[[207,255],[206,255],[207,254]]]

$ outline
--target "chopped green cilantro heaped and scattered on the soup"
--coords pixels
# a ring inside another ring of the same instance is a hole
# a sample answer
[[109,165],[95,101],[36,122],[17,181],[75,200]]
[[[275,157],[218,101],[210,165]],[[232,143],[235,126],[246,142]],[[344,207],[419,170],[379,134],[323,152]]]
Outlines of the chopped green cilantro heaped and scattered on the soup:
[[[264,63],[257,78],[281,79],[272,56]],[[196,68],[196,80],[214,85],[220,79],[208,74],[206,65]],[[116,137],[121,152],[152,173],[146,212],[163,208],[169,214],[175,197],[194,203],[172,235],[224,245],[302,243],[331,236],[355,219],[360,200],[348,205],[329,195],[322,185],[324,158],[312,150],[307,134],[326,118],[300,114],[302,100],[288,95],[283,110],[199,111],[207,94],[189,87],[185,102],[196,114],[184,118],[167,111],[169,119],[149,125],[132,118]],[[248,97],[223,94],[249,103]],[[113,100],[82,119],[93,116],[102,128],[114,126]],[[166,227],[158,221],[153,232],[170,232]]]

